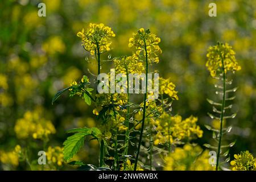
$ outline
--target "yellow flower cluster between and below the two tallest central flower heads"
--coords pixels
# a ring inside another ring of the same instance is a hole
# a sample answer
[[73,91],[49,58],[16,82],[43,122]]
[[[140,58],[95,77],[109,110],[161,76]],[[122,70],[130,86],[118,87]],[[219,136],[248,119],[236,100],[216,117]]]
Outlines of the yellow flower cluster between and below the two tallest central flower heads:
[[141,74],[144,71],[142,62],[139,62],[135,55],[123,56],[121,59],[114,59],[116,73],[137,73]]

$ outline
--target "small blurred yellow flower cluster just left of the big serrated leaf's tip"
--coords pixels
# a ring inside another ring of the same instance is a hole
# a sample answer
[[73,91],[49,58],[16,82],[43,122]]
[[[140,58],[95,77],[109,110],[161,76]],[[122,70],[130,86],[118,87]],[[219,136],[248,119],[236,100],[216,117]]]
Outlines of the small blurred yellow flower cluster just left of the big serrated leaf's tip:
[[63,148],[57,147],[48,147],[46,152],[48,164],[57,164],[57,166],[61,166],[64,163],[63,159]]

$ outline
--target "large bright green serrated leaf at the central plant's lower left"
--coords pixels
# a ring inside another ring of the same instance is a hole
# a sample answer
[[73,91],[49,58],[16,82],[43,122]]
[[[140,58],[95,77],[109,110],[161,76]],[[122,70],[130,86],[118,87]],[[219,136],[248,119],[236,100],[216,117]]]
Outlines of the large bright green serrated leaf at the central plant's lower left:
[[80,148],[84,145],[84,138],[88,135],[86,133],[76,133],[71,137],[68,137],[67,140],[63,143],[64,145],[64,160],[67,161],[75,155]]

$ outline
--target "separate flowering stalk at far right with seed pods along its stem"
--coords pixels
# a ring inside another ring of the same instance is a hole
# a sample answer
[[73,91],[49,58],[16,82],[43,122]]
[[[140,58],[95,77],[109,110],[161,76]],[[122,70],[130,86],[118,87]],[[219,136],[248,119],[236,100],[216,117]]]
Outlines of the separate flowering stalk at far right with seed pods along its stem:
[[[227,43],[218,43],[216,46],[210,46],[207,53],[208,61],[206,63],[206,66],[210,71],[210,76],[222,81],[222,85],[216,85],[216,88],[221,89],[221,91],[216,92],[216,94],[222,94],[221,103],[208,100],[208,102],[213,105],[213,112],[220,114],[220,117],[216,117],[215,115],[209,113],[209,116],[211,118],[218,119],[220,121],[220,130],[218,131],[217,137],[214,133],[214,130],[207,126],[209,130],[213,131],[214,138],[218,139],[216,171],[218,170],[220,160],[219,158],[222,153],[221,148],[226,147],[221,146],[222,135],[224,133],[223,121],[224,119],[236,117],[236,114],[232,114],[229,116],[224,115],[225,110],[232,107],[232,105],[226,107],[226,101],[234,99],[234,97],[227,98],[226,94],[229,92],[236,92],[237,90],[237,88],[233,88],[230,90],[226,89],[227,84],[232,84],[232,81],[228,81],[227,79],[227,73],[230,71],[234,73],[235,71],[239,71],[241,69],[240,65],[238,65],[237,63],[236,57],[234,56],[235,54],[236,53],[233,51],[232,47],[229,46],[229,44]],[[216,108],[217,106],[221,107],[221,110],[218,110]],[[229,127],[228,129],[225,129],[225,132],[228,133],[230,130],[231,128]],[[234,143],[229,144],[230,147],[232,147],[233,145]],[[209,144],[207,144],[206,146],[209,146]]]

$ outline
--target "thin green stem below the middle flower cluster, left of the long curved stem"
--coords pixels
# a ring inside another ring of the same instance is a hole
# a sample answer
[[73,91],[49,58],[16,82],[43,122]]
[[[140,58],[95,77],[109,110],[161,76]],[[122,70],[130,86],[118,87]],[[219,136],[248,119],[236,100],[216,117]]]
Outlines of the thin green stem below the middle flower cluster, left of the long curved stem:
[[[126,80],[127,80],[127,102],[130,103],[130,94],[129,94],[129,73],[126,65]],[[126,115],[126,121],[125,126],[127,127],[127,130],[125,131],[125,150],[123,152],[123,155],[128,154],[128,148],[129,148],[129,119],[130,119],[130,106],[127,106],[127,115]],[[124,164],[124,169],[126,170],[126,162]]]

